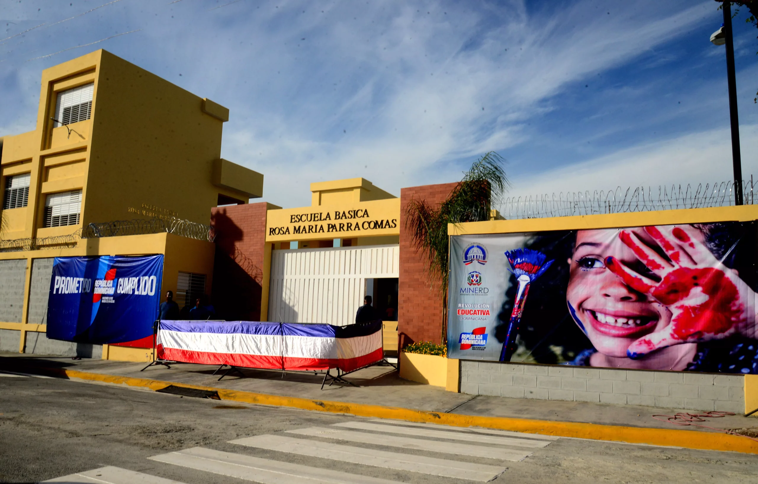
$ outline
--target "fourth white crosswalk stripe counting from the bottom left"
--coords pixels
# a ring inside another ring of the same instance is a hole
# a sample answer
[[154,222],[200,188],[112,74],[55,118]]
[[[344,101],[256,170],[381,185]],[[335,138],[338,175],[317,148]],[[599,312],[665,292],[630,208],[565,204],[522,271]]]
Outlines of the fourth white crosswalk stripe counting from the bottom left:
[[309,427],[307,429],[287,430],[287,432],[296,433],[301,436],[323,437],[325,439],[362,442],[364,444],[384,445],[386,447],[413,448],[420,451],[470,455],[472,457],[487,457],[490,459],[501,459],[506,461],[522,461],[525,457],[531,455],[531,452],[517,451],[509,448],[459,444],[457,442],[438,442],[426,439],[412,439],[403,436],[387,436],[377,433],[353,432],[352,430],[335,429],[334,427]]

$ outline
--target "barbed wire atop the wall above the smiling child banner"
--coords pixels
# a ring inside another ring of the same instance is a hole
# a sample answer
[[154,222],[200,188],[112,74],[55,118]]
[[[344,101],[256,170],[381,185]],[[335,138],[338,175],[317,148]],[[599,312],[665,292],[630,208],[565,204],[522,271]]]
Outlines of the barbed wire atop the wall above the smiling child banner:
[[[758,182],[753,176],[742,183],[744,205],[758,202]],[[553,195],[509,197],[500,205],[506,220],[568,217],[572,215],[621,214],[679,208],[709,208],[735,205],[735,182],[691,185],[637,186],[594,192],[566,192]]]

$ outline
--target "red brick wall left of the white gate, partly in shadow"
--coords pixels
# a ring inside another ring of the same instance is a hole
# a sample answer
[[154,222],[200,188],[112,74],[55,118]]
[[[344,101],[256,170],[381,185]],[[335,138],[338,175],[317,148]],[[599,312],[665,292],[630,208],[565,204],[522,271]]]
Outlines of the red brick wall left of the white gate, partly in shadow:
[[218,317],[261,318],[267,206],[262,201],[211,209],[216,230],[211,300]]

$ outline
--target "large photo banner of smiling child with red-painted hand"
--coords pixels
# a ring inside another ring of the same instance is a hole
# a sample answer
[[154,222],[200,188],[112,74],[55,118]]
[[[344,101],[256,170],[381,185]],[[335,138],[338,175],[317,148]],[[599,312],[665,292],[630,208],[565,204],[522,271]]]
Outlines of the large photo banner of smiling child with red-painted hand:
[[756,226],[453,236],[449,358],[758,373]]

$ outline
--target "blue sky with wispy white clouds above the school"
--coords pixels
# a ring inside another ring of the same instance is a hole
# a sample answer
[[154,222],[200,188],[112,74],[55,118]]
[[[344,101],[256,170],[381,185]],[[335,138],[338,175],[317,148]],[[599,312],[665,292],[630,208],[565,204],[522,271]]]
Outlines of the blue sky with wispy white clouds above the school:
[[[717,6],[0,0],[0,136],[33,129],[42,69],[105,48],[230,108],[222,156],[264,173],[263,199],[284,207],[310,205],[321,180],[395,195],[456,181],[490,150],[514,196],[725,181]],[[756,35],[735,19],[747,176]]]

